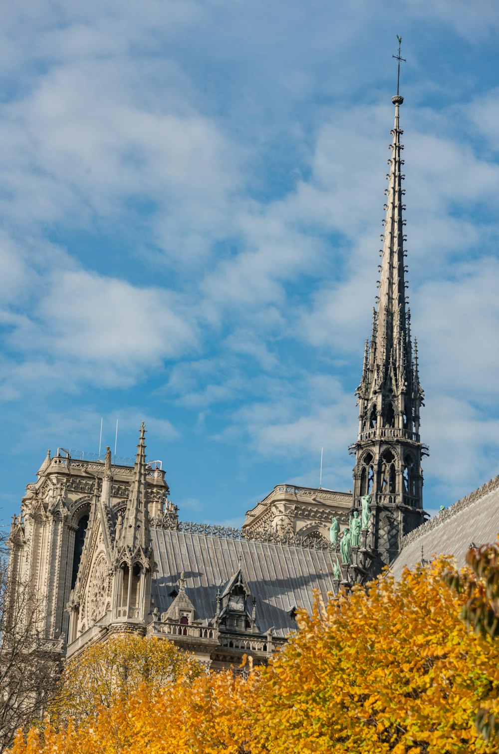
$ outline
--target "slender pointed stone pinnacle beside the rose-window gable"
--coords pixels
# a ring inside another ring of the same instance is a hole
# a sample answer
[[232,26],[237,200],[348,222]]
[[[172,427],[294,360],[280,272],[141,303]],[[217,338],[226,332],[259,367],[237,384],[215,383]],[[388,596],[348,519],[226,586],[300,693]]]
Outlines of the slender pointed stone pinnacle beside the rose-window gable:
[[133,467],[133,480],[124,515],[123,528],[119,534],[117,547],[125,548],[130,562],[148,559],[151,537],[147,510],[147,471],[145,469],[145,426],[142,421],[139,444]]

